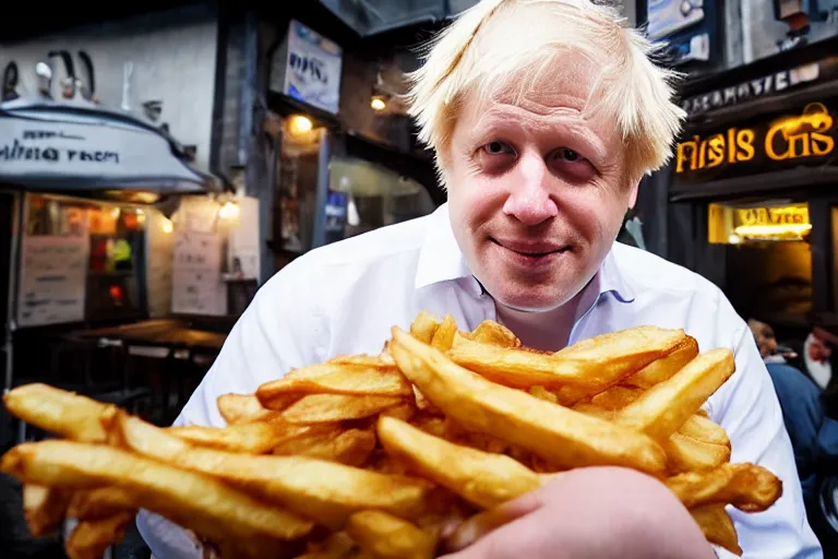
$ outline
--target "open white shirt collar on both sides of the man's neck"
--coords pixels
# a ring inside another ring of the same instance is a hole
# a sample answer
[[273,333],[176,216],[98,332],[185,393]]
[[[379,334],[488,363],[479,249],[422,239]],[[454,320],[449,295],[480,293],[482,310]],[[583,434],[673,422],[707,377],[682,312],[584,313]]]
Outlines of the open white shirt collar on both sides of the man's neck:
[[[422,288],[436,283],[471,278],[471,271],[466,265],[451,228],[447,202],[438,207],[428,219],[428,228],[416,269],[416,287]],[[594,277],[595,290],[598,287],[600,297],[610,294],[621,302],[632,302],[634,292],[625,283],[619,267],[614,255],[616,247],[615,242]]]

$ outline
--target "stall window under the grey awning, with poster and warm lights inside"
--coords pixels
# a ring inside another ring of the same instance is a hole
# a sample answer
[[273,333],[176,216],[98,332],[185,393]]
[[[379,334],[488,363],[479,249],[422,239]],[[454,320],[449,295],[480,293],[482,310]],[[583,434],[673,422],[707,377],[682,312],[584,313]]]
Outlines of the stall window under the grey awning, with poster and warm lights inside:
[[17,320],[22,326],[141,313],[142,210],[31,195]]

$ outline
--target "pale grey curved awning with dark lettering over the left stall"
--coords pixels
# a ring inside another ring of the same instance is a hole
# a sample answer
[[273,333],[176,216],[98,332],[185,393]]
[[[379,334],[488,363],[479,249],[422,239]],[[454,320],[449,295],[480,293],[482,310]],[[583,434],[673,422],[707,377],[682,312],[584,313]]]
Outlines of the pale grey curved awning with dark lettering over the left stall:
[[141,203],[224,190],[170,135],[131,115],[32,99],[0,104],[0,185]]

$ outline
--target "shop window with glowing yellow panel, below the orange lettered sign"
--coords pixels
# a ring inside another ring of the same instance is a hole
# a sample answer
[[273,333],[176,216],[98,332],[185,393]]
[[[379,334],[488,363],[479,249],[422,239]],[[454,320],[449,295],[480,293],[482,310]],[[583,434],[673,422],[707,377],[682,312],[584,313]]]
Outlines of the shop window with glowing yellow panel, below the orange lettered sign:
[[709,204],[708,241],[726,246],[725,293],[740,313],[783,321],[812,310],[807,204]]

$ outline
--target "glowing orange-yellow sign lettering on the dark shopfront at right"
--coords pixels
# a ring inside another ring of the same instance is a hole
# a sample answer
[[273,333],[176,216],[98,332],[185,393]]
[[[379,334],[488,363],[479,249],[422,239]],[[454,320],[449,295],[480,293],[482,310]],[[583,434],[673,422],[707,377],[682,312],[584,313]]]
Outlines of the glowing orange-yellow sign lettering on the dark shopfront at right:
[[[675,152],[675,174],[729,168],[749,162],[817,162],[835,150],[834,118],[822,103],[811,103],[800,115],[783,116],[767,127],[731,127],[682,142]],[[770,170],[769,168],[762,169]]]

